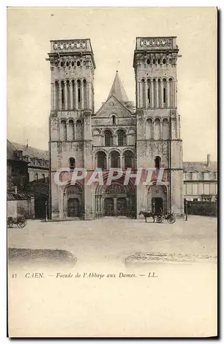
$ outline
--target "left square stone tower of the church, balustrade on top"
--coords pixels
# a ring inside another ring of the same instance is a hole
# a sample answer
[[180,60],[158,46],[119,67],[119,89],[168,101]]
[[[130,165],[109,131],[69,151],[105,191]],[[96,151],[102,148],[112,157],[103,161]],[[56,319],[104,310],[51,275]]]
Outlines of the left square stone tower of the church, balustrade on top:
[[[91,115],[94,112],[93,79],[96,68],[89,39],[51,41],[47,61],[51,69],[49,116],[50,213],[52,219],[88,213],[92,204],[88,186],[58,186],[58,169],[92,169]],[[84,202],[86,200],[86,202]],[[68,212],[73,212],[68,214]],[[85,216],[83,216],[85,218]]]

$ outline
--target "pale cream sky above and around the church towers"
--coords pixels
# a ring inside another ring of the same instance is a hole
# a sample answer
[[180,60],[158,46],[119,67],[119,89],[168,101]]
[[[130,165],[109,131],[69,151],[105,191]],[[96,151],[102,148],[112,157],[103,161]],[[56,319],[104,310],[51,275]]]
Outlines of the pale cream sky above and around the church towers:
[[183,160],[216,160],[216,8],[8,9],[8,139],[48,149],[50,40],[91,39],[95,111],[118,70],[135,102],[137,36],[177,36]]

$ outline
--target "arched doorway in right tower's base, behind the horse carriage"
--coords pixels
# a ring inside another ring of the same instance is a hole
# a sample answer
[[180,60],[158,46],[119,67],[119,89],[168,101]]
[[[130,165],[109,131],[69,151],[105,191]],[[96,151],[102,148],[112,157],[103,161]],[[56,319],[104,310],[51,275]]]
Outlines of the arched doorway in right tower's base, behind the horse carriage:
[[148,189],[148,211],[156,215],[168,211],[167,189],[165,185],[154,184]]

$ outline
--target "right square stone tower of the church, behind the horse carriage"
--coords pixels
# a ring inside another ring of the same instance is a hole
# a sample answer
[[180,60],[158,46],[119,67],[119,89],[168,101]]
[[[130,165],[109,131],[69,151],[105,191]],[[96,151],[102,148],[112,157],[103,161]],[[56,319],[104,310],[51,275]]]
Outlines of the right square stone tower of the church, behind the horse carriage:
[[183,213],[180,116],[177,111],[176,37],[137,37],[135,68],[137,167],[163,167],[163,182],[137,188],[140,210]]

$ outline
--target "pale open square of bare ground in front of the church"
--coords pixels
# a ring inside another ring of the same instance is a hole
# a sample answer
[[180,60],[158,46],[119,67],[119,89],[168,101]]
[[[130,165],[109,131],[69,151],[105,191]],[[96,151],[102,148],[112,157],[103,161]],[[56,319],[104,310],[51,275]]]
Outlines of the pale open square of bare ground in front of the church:
[[144,217],[47,223],[28,220],[25,228],[8,228],[8,247],[67,250],[78,261],[123,261],[136,253],[216,257],[216,218],[190,216],[187,222],[177,219],[175,224],[147,221]]

